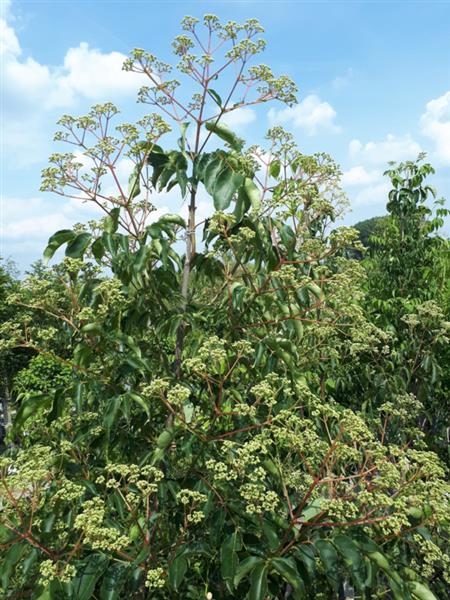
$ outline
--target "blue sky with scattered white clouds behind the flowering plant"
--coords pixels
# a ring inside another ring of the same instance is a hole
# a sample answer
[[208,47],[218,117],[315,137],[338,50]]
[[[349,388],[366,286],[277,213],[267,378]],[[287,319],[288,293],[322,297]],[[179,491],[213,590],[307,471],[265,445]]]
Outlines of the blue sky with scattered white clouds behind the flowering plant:
[[[21,269],[40,257],[54,231],[96,216],[79,202],[39,192],[40,171],[57,149],[56,120],[108,100],[126,121],[144,114],[136,105],[139,82],[121,71],[123,59],[142,47],[169,62],[186,14],[259,19],[267,49],[257,62],[293,78],[299,104],[249,109],[235,128],[253,144],[283,124],[302,151],[332,154],[351,202],[347,224],[382,214],[387,161],[421,150],[437,169],[433,183],[450,196],[449,2],[0,2],[0,256]],[[157,204],[183,210],[176,195]]]

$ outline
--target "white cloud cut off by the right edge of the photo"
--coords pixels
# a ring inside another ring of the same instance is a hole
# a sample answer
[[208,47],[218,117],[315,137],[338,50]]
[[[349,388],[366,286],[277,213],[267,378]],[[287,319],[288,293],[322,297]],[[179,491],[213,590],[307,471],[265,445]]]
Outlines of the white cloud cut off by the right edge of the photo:
[[427,103],[420,126],[422,133],[434,142],[436,158],[450,164],[450,91]]

